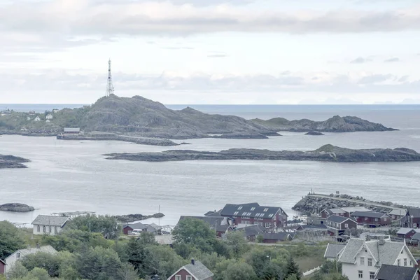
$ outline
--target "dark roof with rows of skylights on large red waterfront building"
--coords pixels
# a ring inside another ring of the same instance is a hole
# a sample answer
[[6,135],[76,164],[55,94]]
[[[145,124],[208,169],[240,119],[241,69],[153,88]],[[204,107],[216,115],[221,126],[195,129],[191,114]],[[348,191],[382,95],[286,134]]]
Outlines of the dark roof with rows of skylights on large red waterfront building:
[[221,211],[221,216],[239,216],[249,218],[273,218],[280,207],[260,206],[258,203],[226,204]]

